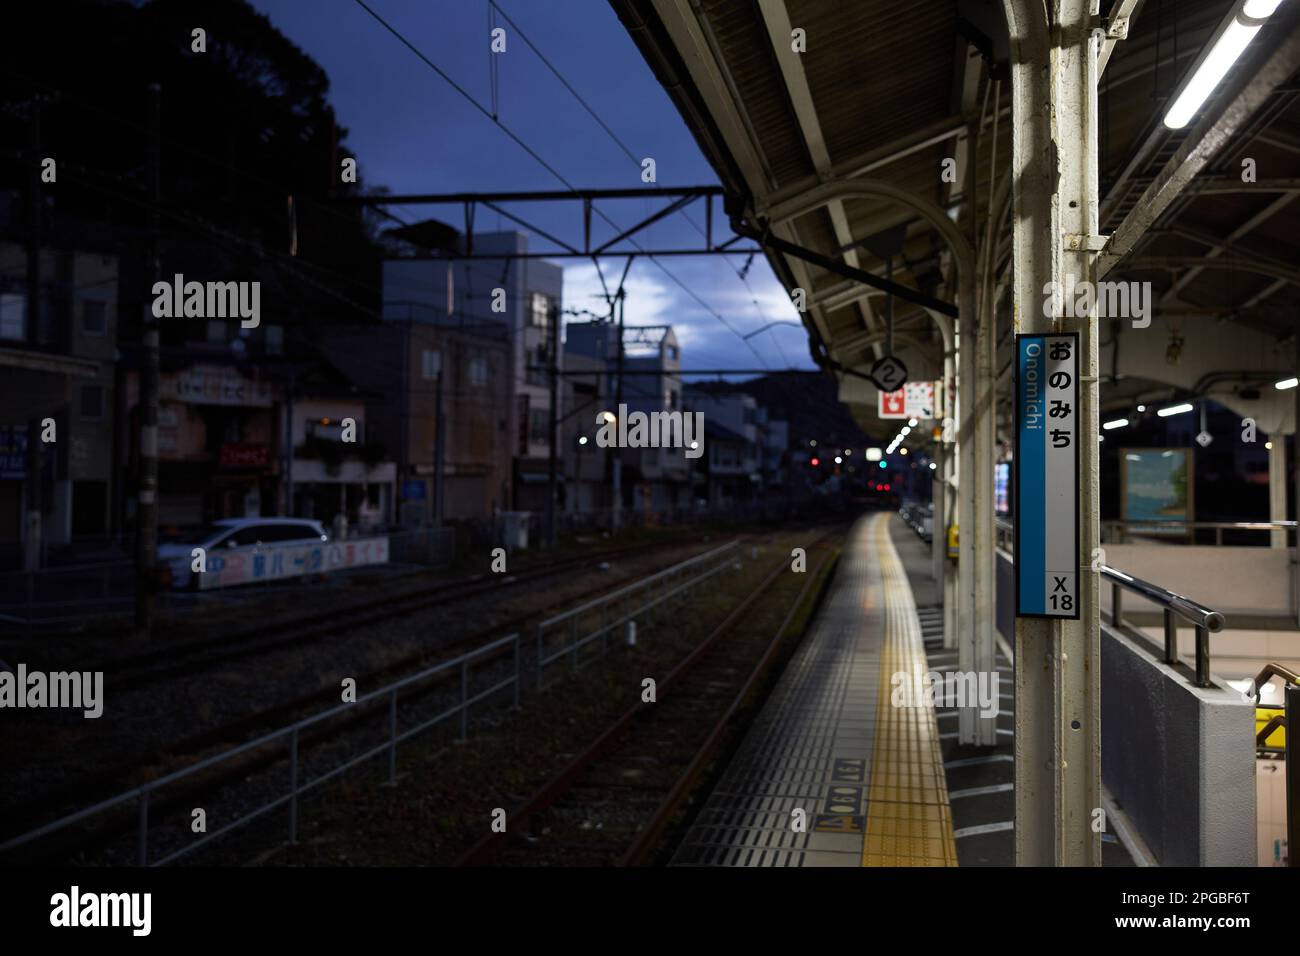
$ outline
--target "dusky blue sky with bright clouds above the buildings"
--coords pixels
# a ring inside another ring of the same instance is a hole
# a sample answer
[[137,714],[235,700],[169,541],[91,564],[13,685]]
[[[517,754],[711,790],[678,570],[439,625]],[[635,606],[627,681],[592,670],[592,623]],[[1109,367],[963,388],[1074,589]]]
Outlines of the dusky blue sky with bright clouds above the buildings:
[[[330,100],[347,127],[369,185],[395,194],[564,189],[491,120],[407,49],[355,0],[251,0],[254,7],[315,59],[330,78]],[[367,0],[367,4],[489,111],[490,57],[497,65],[498,116],[520,139],[580,187],[637,189],[641,168],[597,124],[516,35],[506,30],[506,52],[489,51],[488,0]],[[655,81],[606,0],[498,0],[498,8],[564,75],[637,157],[653,157],[659,186],[716,183],[668,95]],[[601,204],[629,226],[662,200]],[[443,219],[462,226],[459,208],[396,207],[407,220]],[[573,245],[581,242],[577,203],[516,206],[525,219]],[[703,207],[688,208],[703,226]],[[720,203],[716,235],[725,234]],[[681,215],[660,220],[638,242],[684,247],[702,242]],[[511,228],[502,221],[502,228]],[[478,230],[497,229],[497,216],[478,211]],[[593,242],[614,230],[593,217]],[[534,247],[546,248],[542,239]],[[748,245],[748,243],[746,243]],[[588,261],[556,260],[566,268],[569,308],[603,311],[601,284]],[[654,263],[638,259],[628,277],[627,321],[672,324],[688,368],[811,367],[802,329],[777,325],[749,339],[741,333],[767,321],[796,321],[797,313],[762,256],[737,277],[745,256],[660,259],[707,304],[701,306]],[[618,282],[623,259],[602,260],[606,280]],[[753,351],[750,350],[753,346]],[[757,355],[755,355],[757,351]]]

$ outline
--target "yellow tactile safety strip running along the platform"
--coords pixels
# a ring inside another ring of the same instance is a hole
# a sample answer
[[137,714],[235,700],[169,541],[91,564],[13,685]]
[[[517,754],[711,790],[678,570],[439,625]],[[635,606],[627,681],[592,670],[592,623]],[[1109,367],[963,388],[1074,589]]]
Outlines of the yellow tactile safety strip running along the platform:
[[890,702],[893,675],[906,674],[911,687],[923,687],[927,662],[907,575],[889,540],[888,516],[872,519],[870,538],[880,567],[885,637],[862,865],[956,866],[957,843],[935,708],[896,708]]

